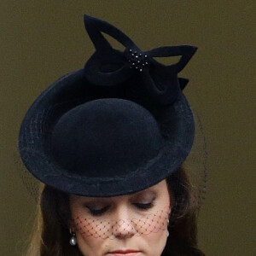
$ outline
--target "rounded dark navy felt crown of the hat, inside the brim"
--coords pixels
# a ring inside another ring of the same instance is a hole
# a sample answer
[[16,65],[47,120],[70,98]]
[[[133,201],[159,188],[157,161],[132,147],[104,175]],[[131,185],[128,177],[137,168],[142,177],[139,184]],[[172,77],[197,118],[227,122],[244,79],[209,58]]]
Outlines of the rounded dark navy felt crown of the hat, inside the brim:
[[135,102],[98,99],[61,116],[51,136],[53,159],[83,177],[114,177],[136,171],[160,152],[153,115]]

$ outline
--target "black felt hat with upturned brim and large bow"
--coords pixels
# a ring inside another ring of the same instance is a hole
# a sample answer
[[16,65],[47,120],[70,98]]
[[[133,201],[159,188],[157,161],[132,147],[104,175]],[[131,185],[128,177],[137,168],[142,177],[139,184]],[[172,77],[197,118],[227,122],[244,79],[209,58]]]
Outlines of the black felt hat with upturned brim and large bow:
[[[84,15],[84,24],[96,52],[33,102],[20,126],[20,157],[33,176],[69,194],[131,194],[165,179],[189,154],[189,80],[177,73],[197,48],[143,51],[106,21]],[[170,66],[154,60],[174,55],[181,59]]]

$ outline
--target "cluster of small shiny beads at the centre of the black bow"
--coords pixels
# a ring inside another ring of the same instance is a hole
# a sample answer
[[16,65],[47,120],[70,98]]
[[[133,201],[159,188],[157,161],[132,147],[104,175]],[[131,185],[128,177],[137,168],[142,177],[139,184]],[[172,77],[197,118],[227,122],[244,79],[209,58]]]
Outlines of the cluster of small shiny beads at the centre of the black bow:
[[127,60],[131,64],[130,68],[135,68],[140,72],[143,71],[143,67],[148,66],[148,55],[144,55],[142,52],[137,52],[137,50],[129,49]]

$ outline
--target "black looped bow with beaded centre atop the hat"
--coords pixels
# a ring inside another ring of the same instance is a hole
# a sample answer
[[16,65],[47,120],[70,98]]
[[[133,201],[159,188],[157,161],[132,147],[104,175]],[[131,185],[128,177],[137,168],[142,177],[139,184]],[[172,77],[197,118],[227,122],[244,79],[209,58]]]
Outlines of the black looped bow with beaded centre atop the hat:
[[[137,74],[143,79],[148,93],[161,104],[171,104],[183,90],[188,79],[177,78],[177,73],[189,62],[197,47],[191,45],[164,46],[143,51],[123,32],[105,20],[84,15],[84,25],[96,52],[84,66],[86,78],[93,84],[110,86],[121,84]],[[102,32],[125,46],[125,51],[113,49]],[[154,57],[181,55],[181,59],[165,66]]]

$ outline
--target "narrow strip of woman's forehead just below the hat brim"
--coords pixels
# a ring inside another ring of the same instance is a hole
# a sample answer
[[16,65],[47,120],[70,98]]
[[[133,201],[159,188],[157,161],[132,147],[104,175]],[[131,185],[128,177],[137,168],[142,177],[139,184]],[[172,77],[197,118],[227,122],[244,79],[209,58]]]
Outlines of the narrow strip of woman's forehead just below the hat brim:
[[127,198],[133,198],[137,196],[143,196],[143,195],[156,195],[163,193],[164,190],[167,191],[166,186],[166,180],[162,180],[160,183],[157,183],[147,189],[140,190],[136,193],[128,194],[128,195],[117,195],[117,196],[111,196],[111,197],[90,197],[90,196],[80,196],[80,195],[71,195],[71,198],[83,198],[83,199],[90,199],[90,200],[119,200],[119,199],[127,199]]

